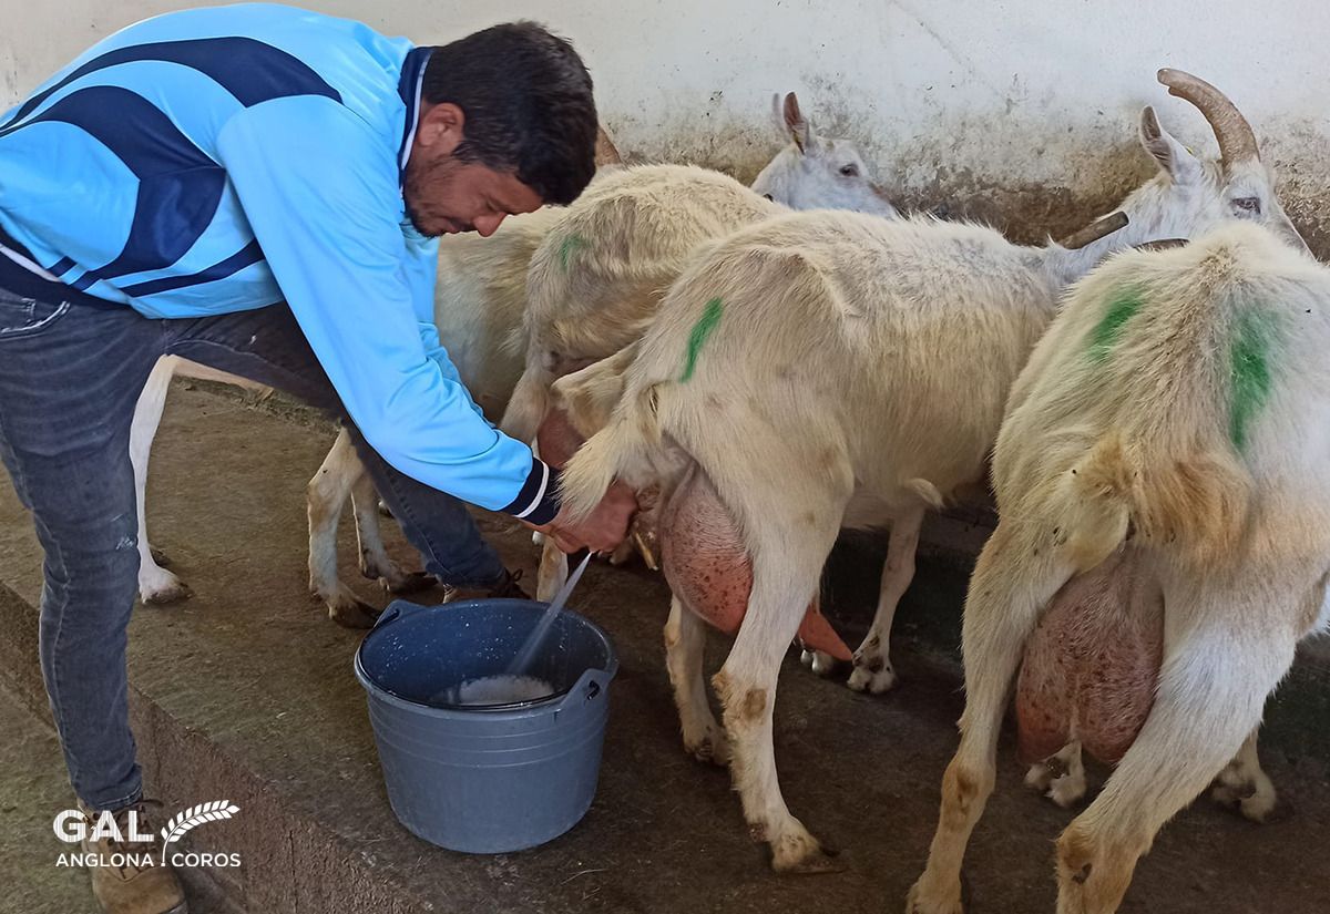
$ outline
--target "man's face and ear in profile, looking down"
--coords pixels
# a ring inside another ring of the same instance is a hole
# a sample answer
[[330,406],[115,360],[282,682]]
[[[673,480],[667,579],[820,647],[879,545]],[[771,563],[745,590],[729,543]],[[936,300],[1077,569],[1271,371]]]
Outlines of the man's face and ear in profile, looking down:
[[462,110],[447,102],[420,113],[403,182],[407,215],[426,236],[477,231],[492,235],[507,217],[544,201],[517,177],[452,157],[463,139]]

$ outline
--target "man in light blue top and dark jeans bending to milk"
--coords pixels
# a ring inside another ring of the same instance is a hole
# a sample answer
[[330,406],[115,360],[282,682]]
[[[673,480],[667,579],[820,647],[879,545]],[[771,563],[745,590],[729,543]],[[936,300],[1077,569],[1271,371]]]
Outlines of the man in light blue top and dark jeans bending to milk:
[[[585,68],[536,25],[414,48],[273,5],[129,27],[0,117],[0,457],[45,551],[41,666],[86,810],[142,805],[128,441],[160,356],[343,414],[446,583],[516,590],[463,501],[565,549],[622,539],[630,493],[563,517],[556,472],[481,418],[431,323],[428,239],[568,203],[595,138]],[[93,890],[185,910],[166,868],[94,868]]]

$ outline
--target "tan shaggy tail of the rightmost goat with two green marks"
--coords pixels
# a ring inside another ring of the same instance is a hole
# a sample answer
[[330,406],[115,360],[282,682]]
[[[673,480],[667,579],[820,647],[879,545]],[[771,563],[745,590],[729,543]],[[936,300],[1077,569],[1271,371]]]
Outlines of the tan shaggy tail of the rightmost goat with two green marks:
[[1161,444],[1111,432],[1064,477],[1059,514],[1077,570],[1108,558],[1133,527],[1142,545],[1192,563],[1230,554],[1252,500],[1246,468],[1224,446],[1178,454]]

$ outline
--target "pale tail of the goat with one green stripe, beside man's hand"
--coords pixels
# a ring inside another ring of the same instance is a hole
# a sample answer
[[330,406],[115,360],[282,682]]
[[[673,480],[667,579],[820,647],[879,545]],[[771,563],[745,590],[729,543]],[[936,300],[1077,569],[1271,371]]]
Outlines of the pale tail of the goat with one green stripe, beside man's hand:
[[653,480],[652,456],[661,442],[656,416],[656,389],[629,393],[609,424],[577,449],[561,476],[563,505],[583,518],[600,503],[614,480],[633,488]]

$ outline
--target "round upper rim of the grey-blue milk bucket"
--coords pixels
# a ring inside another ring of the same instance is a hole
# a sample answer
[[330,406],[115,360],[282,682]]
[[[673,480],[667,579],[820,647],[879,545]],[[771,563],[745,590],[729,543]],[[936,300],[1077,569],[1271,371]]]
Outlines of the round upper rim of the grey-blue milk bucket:
[[[403,697],[396,692],[394,692],[392,689],[383,686],[382,683],[379,683],[378,680],[375,680],[374,676],[371,676],[370,672],[364,668],[364,664],[360,660],[360,654],[364,651],[364,646],[370,642],[370,638],[374,636],[374,632],[379,631],[380,623],[384,628],[387,628],[394,622],[407,616],[418,615],[419,612],[428,612],[436,610],[456,611],[459,608],[476,608],[477,606],[495,606],[495,604],[504,604],[504,606],[520,604],[520,606],[537,607],[540,610],[544,610],[545,607],[549,606],[547,600],[517,599],[508,596],[483,596],[479,599],[456,600],[454,603],[436,603],[434,606],[423,606],[420,603],[411,603],[410,600],[394,600],[392,603],[388,603],[388,606],[383,610],[383,614],[379,616],[379,622],[374,624],[374,628],[366,632],[364,638],[360,639],[359,646],[356,646],[355,648],[355,655],[351,659],[351,668],[355,672],[356,680],[360,683],[360,687],[370,695],[370,697],[379,699],[382,701],[386,701],[387,704],[395,705],[402,709],[412,711],[415,713],[423,712],[431,717],[456,717],[456,716],[471,717],[477,713],[481,713],[485,716],[499,717],[499,719],[501,717],[517,719],[517,717],[528,717],[532,711],[544,709],[547,705],[549,708],[556,708],[557,705],[561,705],[568,699],[569,695],[572,695],[575,691],[577,691],[580,687],[588,683],[588,680],[589,682],[600,680],[601,688],[605,688],[605,686],[608,686],[610,680],[613,680],[614,676],[618,674],[618,652],[614,650],[614,642],[610,640],[609,634],[604,628],[597,626],[595,622],[588,619],[587,616],[567,607],[564,607],[563,610],[564,614],[579,619],[588,628],[591,628],[597,636],[600,636],[601,640],[605,642],[605,647],[609,651],[609,663],[606,663],[604,668],[588,667],[585,671],[583,671],[581,676],[579,676],[577,680],[573,682],[573,684],[569,686],[568,688],[555,692],[552,695],[545,695],[539,699],[527,699],[524,701],[508,701],[504,704],[424,704],[423,701],[412,701],[411,699]],[[392,616],[388,616],[388,611],[392,610],[394,607],[398,607],[398,612],[394,614]],[[410,611],[404,611],[402,610],[402,607],[410,607]]]

